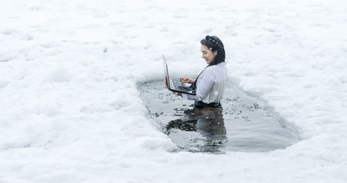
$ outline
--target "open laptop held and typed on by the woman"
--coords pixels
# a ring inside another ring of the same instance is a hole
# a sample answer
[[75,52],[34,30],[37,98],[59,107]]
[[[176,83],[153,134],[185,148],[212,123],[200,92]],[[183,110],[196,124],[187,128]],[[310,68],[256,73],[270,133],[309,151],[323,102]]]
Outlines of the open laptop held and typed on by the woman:
[[162,55],[162,59],[164,63],[164,73],[167,77],[167,86],[169,87],[169,90],[173,92],[180,92],[183,94],[196,95],[192,85],[189,85],[187,83],[183,83],[183,85],[181,85],[180,78],[172,79],[169,77],[169,70],[167,69],[167,60],[165,60],[164,55]]

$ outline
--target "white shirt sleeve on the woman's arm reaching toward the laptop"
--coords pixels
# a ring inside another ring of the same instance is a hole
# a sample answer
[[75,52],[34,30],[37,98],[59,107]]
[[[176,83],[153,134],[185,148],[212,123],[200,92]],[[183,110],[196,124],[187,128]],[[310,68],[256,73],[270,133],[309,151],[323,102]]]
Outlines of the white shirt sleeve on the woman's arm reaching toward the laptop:
[[202,101],[210,93],[213,87],[214,81],[212,77],[212,72],[205,70],[203,77],[198,78],[198,86],[196,89],[196,95],[182,94],[183,98],[187,100]]

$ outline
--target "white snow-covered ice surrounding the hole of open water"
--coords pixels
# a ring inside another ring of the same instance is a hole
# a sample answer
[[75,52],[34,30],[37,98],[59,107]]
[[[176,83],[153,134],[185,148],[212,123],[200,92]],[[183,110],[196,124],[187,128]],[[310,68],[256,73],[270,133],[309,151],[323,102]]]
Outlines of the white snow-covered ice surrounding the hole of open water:
[[[0,0],[0,182],[347,182],[347,1]],[[173,153],[137,82],[205,66],[267,101],[302,141]]]

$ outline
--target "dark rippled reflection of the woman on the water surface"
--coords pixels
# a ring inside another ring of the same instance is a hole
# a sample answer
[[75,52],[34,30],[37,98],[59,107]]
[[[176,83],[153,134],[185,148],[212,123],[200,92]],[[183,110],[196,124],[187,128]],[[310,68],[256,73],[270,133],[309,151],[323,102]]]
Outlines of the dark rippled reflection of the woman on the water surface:
[[[216,153],[224,148],[224,143],[228,141],[226,137],[226,127],[223,119],[222,108],[199,108],[194,110],[185,110],[183,119],[169,121],[165,126],[167,134],[172,129],[179,129],[187,132],[198,132],[203,139],[200,143],[194,143],[198,151]],[[192,150],[187,147],[188,150]]]

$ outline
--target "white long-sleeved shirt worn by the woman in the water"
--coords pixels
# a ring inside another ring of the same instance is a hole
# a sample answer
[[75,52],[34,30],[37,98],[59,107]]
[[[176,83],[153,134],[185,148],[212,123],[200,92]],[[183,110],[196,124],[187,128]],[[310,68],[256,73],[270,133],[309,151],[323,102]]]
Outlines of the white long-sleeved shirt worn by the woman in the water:
[[196,80],[196,95],[182,94],[182,96],[187,100],[219,103],[224,94],[226,77],[226,62],[207,67]]

